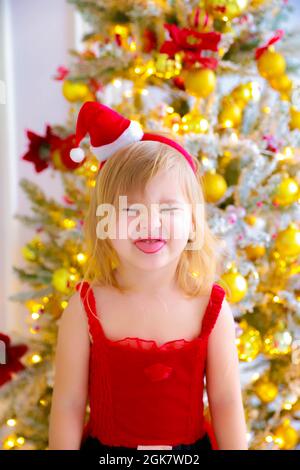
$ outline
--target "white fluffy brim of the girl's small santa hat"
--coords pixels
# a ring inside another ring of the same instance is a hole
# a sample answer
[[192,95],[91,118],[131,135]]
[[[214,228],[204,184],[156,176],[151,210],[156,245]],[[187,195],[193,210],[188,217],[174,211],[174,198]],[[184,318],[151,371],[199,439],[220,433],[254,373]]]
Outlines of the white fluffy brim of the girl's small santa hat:
[[127,129],[111,144],[102,145],[101,147],[90,146],[91,151],[100,161],[106,160],[113,153],[126,145],[139,142],[144,135],[143,129],[136,121],[131,121]]

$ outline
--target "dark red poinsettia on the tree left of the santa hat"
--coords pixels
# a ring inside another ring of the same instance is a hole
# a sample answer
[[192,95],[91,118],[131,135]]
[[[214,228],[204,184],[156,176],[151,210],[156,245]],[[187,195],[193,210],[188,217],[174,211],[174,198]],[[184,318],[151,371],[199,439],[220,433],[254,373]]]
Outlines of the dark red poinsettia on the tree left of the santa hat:
[[[22,160],[32,162],[37,173],[49,166],[62,170],[74,170],[82,165],[82,162],[75,163],[70,158],[70,150],[75,145],[75,134],[62,139],[53,133],[51,126],[47,125],[45,136],[27,130],[27,137],[29,148],[22,156]],[[57,160],[59,160],[59,165]]]

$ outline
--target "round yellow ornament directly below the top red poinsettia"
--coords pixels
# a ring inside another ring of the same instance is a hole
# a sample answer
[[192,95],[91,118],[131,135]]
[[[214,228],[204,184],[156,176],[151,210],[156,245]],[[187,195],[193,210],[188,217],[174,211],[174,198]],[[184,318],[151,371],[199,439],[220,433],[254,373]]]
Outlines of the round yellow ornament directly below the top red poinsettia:
[[216,74],[211,69],[188,70],[183,74],[186,91],[198,98],[207,98],[216,87]]

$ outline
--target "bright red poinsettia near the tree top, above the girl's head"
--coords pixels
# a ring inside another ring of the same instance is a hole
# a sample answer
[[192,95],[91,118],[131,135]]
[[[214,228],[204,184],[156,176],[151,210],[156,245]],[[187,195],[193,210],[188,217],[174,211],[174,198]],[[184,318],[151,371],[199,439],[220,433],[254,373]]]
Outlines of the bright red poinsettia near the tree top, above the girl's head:
[[199,62],[203,67],[215,69],[218,61],[215,57],[204,57],[203,51],[218,51],[221,34],[215,31],[200,33],[189,28],[178,28],[175,24],[165,24],[170,40],[165,41],[160,52],[170,57],[180,51],[184,53],[183,60],[186,65],[191,66]]

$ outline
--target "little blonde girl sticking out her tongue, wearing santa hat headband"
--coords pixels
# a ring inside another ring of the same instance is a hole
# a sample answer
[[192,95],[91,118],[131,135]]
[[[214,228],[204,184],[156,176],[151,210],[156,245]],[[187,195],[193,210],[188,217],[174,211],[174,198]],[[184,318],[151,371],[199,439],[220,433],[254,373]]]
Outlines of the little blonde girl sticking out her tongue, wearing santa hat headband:
[[197,160],[99,103],[83,105],[76,133],[102,163],[84,224],[89,269],[60,320],[49,449],[247,450]]

